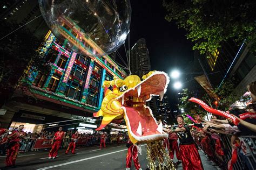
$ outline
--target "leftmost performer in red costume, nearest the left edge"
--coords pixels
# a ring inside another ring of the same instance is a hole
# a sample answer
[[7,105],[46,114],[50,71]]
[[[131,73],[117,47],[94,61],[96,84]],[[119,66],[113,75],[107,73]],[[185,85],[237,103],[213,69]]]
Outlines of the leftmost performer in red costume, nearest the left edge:
[[18,130],[12,131],[12,133],[8,136],[10,143],[7,147],[6,167],[15,166],[15,161],[19,150],[19,140],[25,137],[23,129],[24,125],[19,125]]

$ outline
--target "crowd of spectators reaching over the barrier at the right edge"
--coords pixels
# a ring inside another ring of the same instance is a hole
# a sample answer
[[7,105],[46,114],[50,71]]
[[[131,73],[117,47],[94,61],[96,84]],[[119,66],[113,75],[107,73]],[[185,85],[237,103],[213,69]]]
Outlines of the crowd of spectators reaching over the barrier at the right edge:
[[239,124],[235,125],[231,118],[213,115],[210,121],[196,119],[204,128],[191,128],[197,146],[222,168],[256,169],[256,82],[248,85],[248,91],[251,102],[246,108],[234,106],[228,110]]

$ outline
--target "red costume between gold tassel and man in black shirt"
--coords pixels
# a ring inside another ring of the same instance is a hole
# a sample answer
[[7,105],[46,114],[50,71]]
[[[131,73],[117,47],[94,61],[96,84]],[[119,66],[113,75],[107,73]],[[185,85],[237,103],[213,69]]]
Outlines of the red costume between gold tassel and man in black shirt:
[[169,142],[170,142],[170,149],[169,156],[171,159],[174,158],[174,152],[176,152],[176,157],[180,160],[180,152],[179,152],[179,145],[178,145],[178,135],[176,133],[169,134]]

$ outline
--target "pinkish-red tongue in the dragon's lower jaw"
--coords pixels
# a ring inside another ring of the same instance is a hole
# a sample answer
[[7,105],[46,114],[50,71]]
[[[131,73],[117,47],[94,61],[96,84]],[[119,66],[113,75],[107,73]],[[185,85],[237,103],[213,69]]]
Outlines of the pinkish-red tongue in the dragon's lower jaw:
[[[126,117],[130,123],[131,131],[138,137],[149,136],[152,134],[161,134],[157,131],[158,125],[148,108],[125,107]],[[141,128],[140,128],[141,127]]]

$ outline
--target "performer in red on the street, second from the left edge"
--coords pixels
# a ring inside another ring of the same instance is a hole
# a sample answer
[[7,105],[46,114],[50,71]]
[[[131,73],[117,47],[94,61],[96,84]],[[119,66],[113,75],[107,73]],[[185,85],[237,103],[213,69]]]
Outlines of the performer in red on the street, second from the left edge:
[[58,154],[58,150],[60,145],[62,144],[62,139],[64,137],[65,132],[62,131],[62,127],[59,128],[59,131],[56,132],[52,138],[52,147],[49,152],[49,159],[55,159]]

